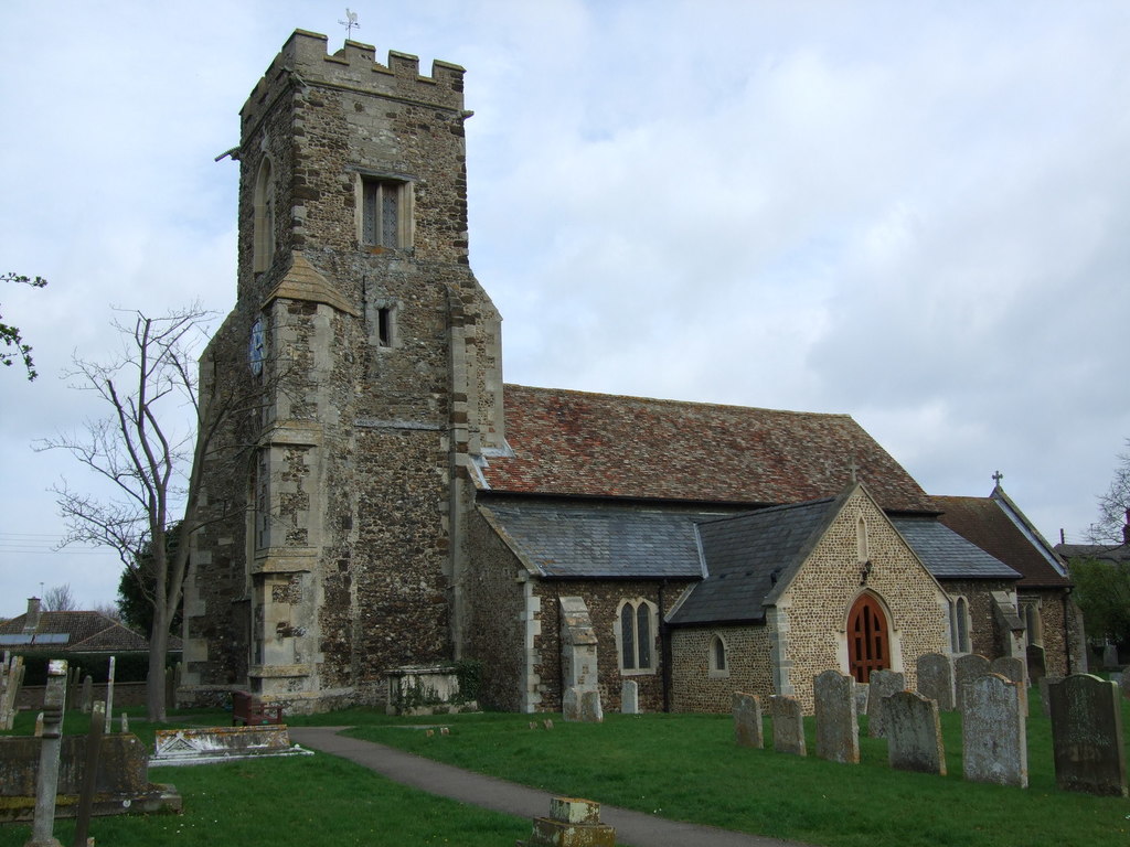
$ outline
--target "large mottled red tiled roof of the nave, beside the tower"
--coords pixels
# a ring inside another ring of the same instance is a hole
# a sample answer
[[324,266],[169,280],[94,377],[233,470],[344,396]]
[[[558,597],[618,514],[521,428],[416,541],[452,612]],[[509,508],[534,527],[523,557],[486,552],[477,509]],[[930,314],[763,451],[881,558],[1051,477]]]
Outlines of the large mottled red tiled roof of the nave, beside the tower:
[[484,471],[523,494],[783,504],[838,495],[859,479],[883,508],[937,510],[846,414],[505,386],[511,459]]

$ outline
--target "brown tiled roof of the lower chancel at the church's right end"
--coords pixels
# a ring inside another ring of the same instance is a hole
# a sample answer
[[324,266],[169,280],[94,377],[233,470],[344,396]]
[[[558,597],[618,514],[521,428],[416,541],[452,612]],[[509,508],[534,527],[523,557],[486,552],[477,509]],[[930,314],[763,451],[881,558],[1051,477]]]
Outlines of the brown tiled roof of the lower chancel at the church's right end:
[[933,497],[946,526],[1023,574],[1019,587],[1064,586],[1062,576],[992,497]]

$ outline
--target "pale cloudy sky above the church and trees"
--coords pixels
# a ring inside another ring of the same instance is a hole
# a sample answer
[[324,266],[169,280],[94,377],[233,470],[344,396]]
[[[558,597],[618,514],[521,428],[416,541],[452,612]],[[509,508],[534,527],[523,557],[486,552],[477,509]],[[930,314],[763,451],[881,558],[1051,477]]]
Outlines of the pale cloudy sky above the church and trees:
[[[1130,3],[431,0],[354,40],[467,68],[471,267],[507,382],[844,412],[930,494],[992,474],[1083,541],[1130,437]],[[238,111],[338,2],[0,5],[0,617],[111,551],[59,548],[40,439],[114,309],[235,302]],[[845,460],[846,461],[846,460]],[[866,480],[864,480],[866,482]]]

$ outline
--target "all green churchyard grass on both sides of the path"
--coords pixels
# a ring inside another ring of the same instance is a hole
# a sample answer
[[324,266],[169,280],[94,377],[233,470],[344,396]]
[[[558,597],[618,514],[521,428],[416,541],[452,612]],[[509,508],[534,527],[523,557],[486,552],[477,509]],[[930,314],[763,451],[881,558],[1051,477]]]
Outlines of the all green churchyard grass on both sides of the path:
[[[1032,695],[1026,791],[962,778],[960,721],[954,714],[942,715],[945,777],[890,770],[886,742],[867,737],[859,766],[740,749],[729,716],[608,715],[592,725],[565,724],[556,715],[555,728],[546,731],[540,728],[546,716],[530,730],[524,715],[394,718],[350,709],[290,723],[355,725],[360,737],[547,793],[827,847],[1125,847],[1130,801],[1055,788],[1050,723],[1038,693]],[[1130,722],[1130,701],[1123,702],[1123,718]],[[224,725],[229,715],[193,713],[171,721]],[[15,732],[27,734],[33,723],[33,715],[20,714]],[[427,737],[418,728],[436,723],[451,726],[452,734]],[[68,713],[68,733],[87,724]],[[131,716],[131,731],[153,743],[153,728],[140,714]],[[807,731],[812,751],[810,719]],[[92,833],[99,844],[477,847],[529,835],[529,821],[438,800],[329,756],[155,768],[150,778],[176,785],[185,814],[95,819]],[[71,831],[67,822],[55,828],[63,844]],[[2,826],[0,847],[21,847],[29,832],[29,826]]]

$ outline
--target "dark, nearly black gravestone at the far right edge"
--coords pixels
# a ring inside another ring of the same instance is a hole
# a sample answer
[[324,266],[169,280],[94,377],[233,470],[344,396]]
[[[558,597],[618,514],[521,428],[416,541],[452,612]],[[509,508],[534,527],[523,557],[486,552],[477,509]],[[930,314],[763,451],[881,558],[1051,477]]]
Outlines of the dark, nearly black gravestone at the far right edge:
[[1063,791],[1127,796],[1118,686],[1077,673],[1048,687],[1055,781]]

